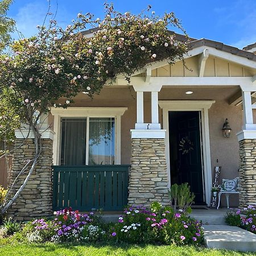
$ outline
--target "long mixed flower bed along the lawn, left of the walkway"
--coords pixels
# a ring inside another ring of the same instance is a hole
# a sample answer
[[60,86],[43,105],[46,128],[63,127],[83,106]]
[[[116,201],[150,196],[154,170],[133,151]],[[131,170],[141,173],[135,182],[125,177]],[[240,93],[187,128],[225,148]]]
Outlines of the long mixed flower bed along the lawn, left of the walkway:
[[24,224],[20,234],[28,242],[85,243],[114,241],[159,245],[200,245],[203,230],[199,221],[189,218],[182,210],[162,209],[154,203],[148,210],[129,207],[117,223],[105,223],[98,214],[81,214],[64,209],[51,219],[41,218]]

